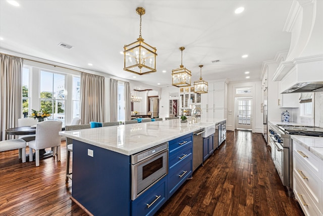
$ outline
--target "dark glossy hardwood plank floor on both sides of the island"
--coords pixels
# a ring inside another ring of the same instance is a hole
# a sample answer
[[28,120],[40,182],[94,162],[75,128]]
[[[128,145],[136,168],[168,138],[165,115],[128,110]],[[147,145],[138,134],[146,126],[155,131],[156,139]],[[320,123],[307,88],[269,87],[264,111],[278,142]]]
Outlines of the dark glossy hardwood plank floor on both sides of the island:
[[[28,147],[27,147],[28,149]],[[65,183],[66,144],[55,157],[21,163],[0,152],[0,215],[87,215]],[[280,182],[261,134],[228,131],[214,152],[156,215],[303,215]]]

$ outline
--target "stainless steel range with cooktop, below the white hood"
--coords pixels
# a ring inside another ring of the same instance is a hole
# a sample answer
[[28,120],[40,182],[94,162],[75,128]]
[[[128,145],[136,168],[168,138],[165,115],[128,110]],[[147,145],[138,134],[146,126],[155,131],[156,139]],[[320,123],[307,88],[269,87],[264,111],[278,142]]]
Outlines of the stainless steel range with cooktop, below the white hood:
[[293,140],[291,135],[323,137],[323,128],[299,125],[269,124],[269,137],[272,158],[279,177],[287,188],[289,196],[293,194]]

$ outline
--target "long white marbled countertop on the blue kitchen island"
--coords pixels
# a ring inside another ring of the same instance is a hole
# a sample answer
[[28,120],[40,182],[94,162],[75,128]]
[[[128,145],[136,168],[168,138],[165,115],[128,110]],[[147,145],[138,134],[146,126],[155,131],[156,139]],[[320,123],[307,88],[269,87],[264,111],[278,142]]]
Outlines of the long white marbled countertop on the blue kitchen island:
[[171,141],[212,123],[181,123],[181,119],[152,121],[118,126],[95,127],[77,131],[62,131],[69,137],[97,147],[132,155],[156,145]]

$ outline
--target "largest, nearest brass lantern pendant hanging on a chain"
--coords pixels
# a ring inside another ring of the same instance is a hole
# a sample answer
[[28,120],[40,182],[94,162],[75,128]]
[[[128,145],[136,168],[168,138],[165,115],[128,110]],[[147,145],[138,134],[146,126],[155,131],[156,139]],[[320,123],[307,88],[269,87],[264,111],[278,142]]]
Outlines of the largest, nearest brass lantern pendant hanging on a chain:
[[141,37],[141,16],[145,14],[144,8],[136,8],[140,15],[140,31],[137,41],[124,46],[124,70],[139,75],[156,72],[156,48],[144,42]]

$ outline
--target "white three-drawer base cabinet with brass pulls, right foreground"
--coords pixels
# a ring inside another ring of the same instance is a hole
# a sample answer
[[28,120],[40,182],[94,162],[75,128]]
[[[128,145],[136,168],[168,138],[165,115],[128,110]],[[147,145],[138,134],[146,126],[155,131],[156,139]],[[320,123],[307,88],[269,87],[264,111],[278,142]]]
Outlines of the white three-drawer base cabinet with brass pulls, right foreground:
[[323,160],[293,140],[293,191],[306,215],[323,215]]

